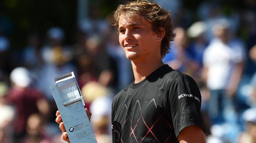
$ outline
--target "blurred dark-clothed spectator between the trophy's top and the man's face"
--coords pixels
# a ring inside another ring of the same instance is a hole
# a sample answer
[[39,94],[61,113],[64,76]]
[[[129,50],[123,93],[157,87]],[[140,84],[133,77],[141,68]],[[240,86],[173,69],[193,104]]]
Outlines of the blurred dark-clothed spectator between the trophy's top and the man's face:
[[[81,78],[87,81],[95,79],[102,86],[111,87],[113,84],[113,59],[106,53],[106,45],[99,35],[91,36],[85,40],[85,52],[79,56],[78,65],[82,68]],[[80,78],[80,79],[81,79]],[[84,82],[84,84],[86,84]]]

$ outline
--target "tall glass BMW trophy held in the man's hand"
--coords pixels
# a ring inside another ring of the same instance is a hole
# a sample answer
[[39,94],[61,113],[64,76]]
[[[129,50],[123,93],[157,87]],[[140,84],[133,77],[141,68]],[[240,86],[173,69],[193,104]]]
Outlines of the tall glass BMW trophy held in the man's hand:
[[54,78],[50,86],[71,143],[97,143],[74,73]]

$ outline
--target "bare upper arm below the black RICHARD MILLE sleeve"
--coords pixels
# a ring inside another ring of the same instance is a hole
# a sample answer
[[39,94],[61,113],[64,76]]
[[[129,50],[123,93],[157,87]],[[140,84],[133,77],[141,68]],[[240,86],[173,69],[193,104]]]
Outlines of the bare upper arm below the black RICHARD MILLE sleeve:
[[180,143],[206,143],[204,132],[199,126],[187,126],[178,135]]

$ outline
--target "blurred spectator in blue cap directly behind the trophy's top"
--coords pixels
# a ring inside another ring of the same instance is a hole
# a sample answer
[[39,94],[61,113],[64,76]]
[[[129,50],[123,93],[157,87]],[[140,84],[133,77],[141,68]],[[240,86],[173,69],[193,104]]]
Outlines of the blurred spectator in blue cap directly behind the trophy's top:
[[[71,49],[63,46],[65,34],[59,27],[52,27],[48,30],[48,44],[43,46],[41,53],[45,62],[39,78],[38,88],[44,93],[48,101],[54,103],[49,85],[54,85],[54,78],[74,71],[76,68],[70,61],[72,60]],[[54,109],[53,109],[54,110]]]

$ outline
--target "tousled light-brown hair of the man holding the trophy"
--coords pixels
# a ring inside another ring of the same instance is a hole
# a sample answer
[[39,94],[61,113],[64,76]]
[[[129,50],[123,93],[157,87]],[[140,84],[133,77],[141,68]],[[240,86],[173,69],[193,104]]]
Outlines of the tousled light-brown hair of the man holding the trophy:
[[165,29],[165,37],[161,42],[161,57],[169,53],[170,41],[174,40],[176,34],[172,30],[170,12],[163,9],[160,5],[149,0],[136,0],[124,5],[119,5],[114,13],[113,25],[118,28],[119,17],[124,15],[128,19],[145,18],[152,24],[152,30],[158,34],[161,27]]

